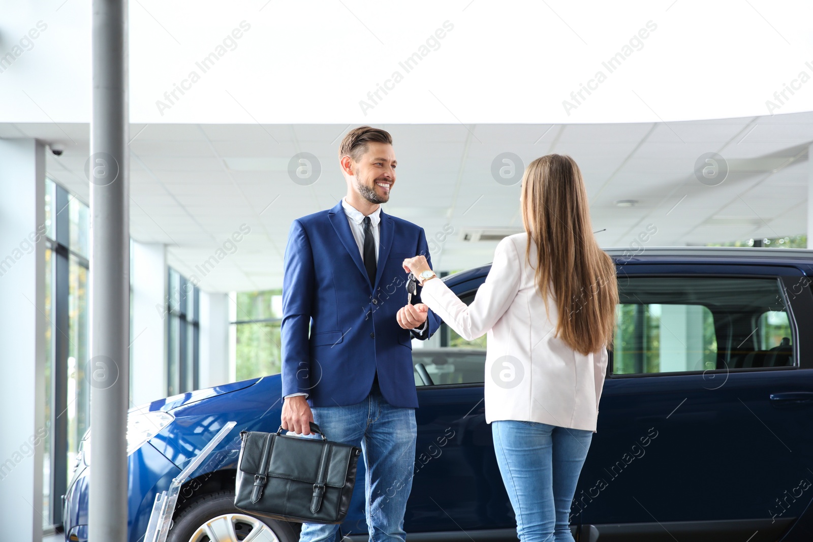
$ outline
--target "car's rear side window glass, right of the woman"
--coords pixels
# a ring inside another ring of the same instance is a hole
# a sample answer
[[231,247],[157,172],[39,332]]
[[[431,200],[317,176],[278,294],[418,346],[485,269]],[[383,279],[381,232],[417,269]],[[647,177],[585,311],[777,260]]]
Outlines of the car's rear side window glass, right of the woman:
[[793,365],[776,279],[625,277],[619,301],[614,375]]

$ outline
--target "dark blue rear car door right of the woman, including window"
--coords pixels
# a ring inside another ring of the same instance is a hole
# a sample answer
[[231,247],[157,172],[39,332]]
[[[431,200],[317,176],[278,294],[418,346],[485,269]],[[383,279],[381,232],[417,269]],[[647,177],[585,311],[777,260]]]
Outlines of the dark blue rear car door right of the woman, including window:
[[615,349],[574,522],[602,542],[789,530],[813,497],[803,281],[795,267],[619,267]]

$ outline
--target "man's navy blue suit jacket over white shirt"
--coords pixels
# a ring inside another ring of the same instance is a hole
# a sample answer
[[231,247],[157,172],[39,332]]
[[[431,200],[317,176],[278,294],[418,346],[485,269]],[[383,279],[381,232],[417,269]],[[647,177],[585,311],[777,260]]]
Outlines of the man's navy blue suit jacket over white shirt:
[[[307,392],[312,406],[355,405],[369,394],[377,369],[390,405],[418,406],[411,340],[428,339],[441,320],[430,311],[419,335],[402,329],[395,314],[406,305],[401,264],[415,254],[429,259],[426,234],[383,210],[380,219],[375,284],[341,202],[293,221],[282,280],[283,397]],[[412,302],[420,302],[420,291]]]

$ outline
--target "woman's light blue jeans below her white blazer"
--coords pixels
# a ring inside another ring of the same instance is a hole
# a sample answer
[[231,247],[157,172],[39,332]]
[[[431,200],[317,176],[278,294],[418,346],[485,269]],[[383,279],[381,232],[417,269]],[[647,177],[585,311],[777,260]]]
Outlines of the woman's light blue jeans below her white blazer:
[[593,431],[500,420],[491,434],[520,540],[573,542],[570,507]]

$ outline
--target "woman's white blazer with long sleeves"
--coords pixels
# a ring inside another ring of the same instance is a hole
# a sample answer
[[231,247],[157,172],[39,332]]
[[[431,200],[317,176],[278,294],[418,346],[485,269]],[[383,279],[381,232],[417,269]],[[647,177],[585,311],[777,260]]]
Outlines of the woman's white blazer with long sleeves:
[[[440,279],[428,280],[421,300],[466,340],[488,333],[485,421],[521,420],[596,431],[606,349],[584,355],[554,337],[558,310],[548,310],[525,258],[527,233],[497,245],[485,283],[470,306]],[[536,262],[532,244],[530,260]]]

